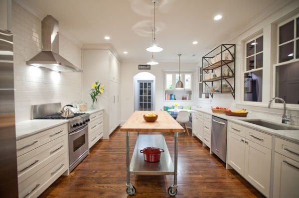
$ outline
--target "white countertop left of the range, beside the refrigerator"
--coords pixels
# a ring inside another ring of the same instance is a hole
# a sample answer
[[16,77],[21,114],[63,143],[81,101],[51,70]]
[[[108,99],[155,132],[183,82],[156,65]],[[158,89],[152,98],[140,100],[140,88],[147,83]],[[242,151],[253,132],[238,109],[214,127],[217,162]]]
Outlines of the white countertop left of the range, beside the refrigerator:
[[67,123],[67,119],[30,119],[15,123],[16,140]]

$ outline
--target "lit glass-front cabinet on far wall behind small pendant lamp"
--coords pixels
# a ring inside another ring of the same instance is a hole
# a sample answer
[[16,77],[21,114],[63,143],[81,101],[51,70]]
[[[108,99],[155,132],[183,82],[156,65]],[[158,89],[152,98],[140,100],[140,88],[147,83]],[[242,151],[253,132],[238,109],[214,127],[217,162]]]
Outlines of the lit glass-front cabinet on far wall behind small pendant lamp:
[[[181,72],[181,81],[183,82],[184,89],[183,90],[192,90],[192,72]],[[165,90],[175,90],[175,85],[178,82],[179,73],[178,72],[165,72],[164,82],[165,82]]]

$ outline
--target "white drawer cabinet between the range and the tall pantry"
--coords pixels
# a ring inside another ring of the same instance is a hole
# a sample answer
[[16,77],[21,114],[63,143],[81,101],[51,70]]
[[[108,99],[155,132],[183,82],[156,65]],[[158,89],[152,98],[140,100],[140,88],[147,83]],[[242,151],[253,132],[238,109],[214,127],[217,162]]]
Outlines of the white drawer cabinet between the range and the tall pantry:
[[91,148],[104,135],[103,110],[90,114],[88,123],[88,148]]

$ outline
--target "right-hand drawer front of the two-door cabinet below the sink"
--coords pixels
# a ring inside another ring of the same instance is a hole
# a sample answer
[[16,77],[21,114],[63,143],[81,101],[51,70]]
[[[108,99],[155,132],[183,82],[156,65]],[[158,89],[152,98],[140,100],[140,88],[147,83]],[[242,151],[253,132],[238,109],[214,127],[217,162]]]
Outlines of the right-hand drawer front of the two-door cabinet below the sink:
[[272,148],[272,136],[266,133],[246,128],[246,139],[251,140],[257,144],[265,146],[269,149]]

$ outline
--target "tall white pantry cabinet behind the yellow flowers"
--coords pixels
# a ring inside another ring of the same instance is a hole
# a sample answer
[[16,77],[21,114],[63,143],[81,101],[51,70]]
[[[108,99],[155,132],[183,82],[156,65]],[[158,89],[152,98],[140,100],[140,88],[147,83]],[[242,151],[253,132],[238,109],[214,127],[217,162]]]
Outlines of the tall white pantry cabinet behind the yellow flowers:
[[90,107],[91,85],[100,81],[105,86],[104,93],[98,97],[97,108],[104,108],[104,138],[120,125],[120,61],[110,49],[83,46],[83,100]]

